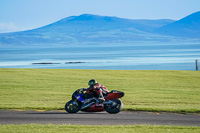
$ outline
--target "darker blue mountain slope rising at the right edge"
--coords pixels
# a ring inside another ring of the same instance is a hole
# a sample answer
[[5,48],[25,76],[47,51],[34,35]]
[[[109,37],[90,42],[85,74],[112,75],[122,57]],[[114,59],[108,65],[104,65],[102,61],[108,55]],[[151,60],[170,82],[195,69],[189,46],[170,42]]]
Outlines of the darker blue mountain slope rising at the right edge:
[[155,30],[158,34],[200,38],[200,11]]

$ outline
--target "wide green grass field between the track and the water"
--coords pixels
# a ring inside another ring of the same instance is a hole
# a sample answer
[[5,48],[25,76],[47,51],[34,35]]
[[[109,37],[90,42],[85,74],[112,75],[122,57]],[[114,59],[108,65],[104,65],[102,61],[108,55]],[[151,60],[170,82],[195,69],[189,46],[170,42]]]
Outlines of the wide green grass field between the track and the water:
[[1,68],[0,108],[61,110],[91,78],[124,91],[124,110],[200,113],[196,71]]

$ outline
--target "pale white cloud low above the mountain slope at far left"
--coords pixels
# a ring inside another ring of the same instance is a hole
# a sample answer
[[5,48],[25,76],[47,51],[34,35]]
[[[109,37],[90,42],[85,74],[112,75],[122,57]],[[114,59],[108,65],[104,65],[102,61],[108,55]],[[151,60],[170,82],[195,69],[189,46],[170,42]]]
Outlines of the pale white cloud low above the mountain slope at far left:
[[20,28],[15,26],[14,23],[1,23],[0,22],[0,33],[5,33],[5,32],[14,32],[14,31],[19,31]]

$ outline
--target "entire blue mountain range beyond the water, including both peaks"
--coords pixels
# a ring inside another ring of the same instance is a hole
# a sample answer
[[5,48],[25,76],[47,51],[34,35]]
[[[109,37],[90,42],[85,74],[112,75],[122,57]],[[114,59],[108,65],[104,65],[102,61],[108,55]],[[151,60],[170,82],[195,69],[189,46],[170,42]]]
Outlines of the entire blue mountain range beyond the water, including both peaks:
[[[199,37],[199,12],[179,21],[131,20],[83,14],[21,32],[0,34],[0,44],[77,44],[170,41],[176,37]],[[197,33],[197,34],[195,34]],[[188,35],[189,34],[189,35]]]

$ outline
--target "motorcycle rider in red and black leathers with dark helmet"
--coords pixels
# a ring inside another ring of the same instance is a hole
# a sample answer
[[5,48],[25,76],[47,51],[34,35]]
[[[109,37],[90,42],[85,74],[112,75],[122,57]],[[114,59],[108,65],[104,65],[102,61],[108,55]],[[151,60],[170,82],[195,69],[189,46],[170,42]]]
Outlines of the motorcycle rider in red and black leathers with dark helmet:
[[86,88],[86,98],[91,96],[97,97],[99,103],[103,103],[105,101],[104,95],[107,94],[109,91],[108,89],[100,83],[97,83],[95,79],[91,79],[88,82],[89,87]]

